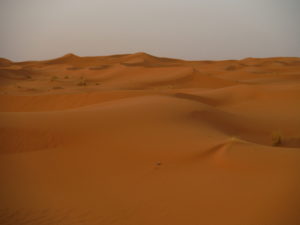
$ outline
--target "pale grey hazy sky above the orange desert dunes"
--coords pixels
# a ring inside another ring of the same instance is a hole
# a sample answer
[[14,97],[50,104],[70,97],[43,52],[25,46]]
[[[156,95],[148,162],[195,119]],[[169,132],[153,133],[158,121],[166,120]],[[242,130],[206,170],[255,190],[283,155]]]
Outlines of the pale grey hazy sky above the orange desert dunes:
[[300,0],[0,0],[0,57],[300,56]]

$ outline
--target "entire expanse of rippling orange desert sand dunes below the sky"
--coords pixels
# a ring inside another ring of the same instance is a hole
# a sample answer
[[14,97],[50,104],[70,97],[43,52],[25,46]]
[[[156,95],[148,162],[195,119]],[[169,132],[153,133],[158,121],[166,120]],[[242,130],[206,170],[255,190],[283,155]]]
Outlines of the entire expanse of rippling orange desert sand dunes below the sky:
[[300,224],[300,58],[0,59],[1,225]]

